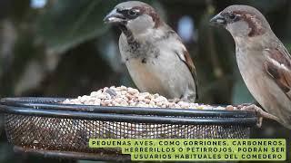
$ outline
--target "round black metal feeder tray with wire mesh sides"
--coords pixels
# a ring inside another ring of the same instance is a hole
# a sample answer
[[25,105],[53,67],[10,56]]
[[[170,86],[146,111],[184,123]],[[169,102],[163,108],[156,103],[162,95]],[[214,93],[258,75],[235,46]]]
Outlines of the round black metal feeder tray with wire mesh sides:
[[89,139],[247,139],[247,111],[153,109],[62,104],[57,98],[0,101],[15,151],[43,157],[130,160],[120,149],[90,149]]

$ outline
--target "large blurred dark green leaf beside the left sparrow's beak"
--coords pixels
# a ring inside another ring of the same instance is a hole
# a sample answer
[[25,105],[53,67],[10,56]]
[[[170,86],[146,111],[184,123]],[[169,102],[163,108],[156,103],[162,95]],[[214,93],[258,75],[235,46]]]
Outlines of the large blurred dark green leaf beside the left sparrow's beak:
[[102,23],[114,1],[71,0],[55,1],[45,8],[37,21],[37,34],[41,36],[51,53],[64,53],[86,40],[105,34]]

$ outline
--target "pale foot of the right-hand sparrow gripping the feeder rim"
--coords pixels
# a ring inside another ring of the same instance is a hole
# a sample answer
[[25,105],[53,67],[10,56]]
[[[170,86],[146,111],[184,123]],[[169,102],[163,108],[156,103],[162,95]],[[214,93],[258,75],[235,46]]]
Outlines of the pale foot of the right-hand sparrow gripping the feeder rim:
[[256,112],[256,116],[257,116],[257,123],[256,123],[256,126],[258,128],[261,128],[262,127],[262,123],[263,123],[263,119],[271,119],[271,120],[276,120],[278,121],[279,119],[270,114],[270,113],[267,113],[265,110],[263,110],[262,108],[254,105],[254,104],[242,104],[242,105],[238,105],[237,106],[237,109],[238,110],[246,110],[246,111],[255,111]]

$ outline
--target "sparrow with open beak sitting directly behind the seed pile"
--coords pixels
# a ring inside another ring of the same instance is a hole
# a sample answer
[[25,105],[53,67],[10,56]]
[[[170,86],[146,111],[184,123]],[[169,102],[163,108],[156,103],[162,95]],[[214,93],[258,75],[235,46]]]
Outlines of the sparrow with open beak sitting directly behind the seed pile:
[[104,19],[122,34],[119,50],[140,91],[195,101],[196,69],[180,37],[143,2],[116,5]]

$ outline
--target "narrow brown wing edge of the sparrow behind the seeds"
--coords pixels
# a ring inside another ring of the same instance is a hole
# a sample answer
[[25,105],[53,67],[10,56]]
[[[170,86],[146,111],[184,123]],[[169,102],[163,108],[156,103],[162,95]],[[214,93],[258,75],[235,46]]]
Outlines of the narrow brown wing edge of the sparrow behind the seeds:
[[191,59],[190,54],[184,50],[182,52],[176,52],[176,55],[180,58],[180,60],[182,62],[186,63],[186,66],[188,67],[189,71],[191,72],[194,82],[195,82],[195,86],[196,86],[196,99],[198,99],[198,82],[197,82],[197,78],[196,78],[196,68],[194,66],[194,62]]

